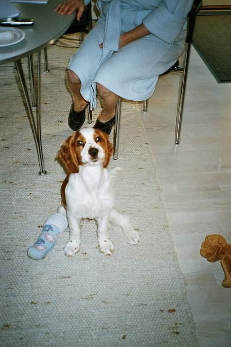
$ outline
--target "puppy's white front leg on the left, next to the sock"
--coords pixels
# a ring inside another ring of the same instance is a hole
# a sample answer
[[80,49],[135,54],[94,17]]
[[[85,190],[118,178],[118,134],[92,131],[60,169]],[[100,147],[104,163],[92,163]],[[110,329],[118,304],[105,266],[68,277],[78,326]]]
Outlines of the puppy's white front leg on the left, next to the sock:
[[68,225],[70,229],[70,238],[64,248],[66,256],[74,256],[80,246],[80,220],[73,213],[67,211]]

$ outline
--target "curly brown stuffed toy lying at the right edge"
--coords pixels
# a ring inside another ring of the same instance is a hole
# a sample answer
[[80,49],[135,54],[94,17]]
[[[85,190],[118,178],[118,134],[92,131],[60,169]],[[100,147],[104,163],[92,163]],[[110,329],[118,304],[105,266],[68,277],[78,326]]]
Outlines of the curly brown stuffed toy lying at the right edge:
[[218,234],[207,235],[201,245],[200,254],[208,261],[221,260],[222,268],[225,272],[223,287],[231,287],[231,244]]

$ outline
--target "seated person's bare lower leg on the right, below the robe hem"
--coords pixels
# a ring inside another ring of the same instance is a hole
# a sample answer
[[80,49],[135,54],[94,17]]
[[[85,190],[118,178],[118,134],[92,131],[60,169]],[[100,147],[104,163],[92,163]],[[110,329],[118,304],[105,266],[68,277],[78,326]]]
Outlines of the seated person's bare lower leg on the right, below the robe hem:
[[103,109],[98,119],[100,122],[107,122],[115,116],[119,96],[99,83],[97,83],[97,90],[103,99]]

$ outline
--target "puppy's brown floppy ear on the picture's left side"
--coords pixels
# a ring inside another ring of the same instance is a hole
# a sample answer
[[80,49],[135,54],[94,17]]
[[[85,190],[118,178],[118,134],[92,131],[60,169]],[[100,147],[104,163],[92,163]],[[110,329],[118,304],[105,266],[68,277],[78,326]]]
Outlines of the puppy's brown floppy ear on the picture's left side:
[[57,153],[56,159],[62,164],[66,173],[78,173],[78,159],[75,151],[75,136],[69,136]]

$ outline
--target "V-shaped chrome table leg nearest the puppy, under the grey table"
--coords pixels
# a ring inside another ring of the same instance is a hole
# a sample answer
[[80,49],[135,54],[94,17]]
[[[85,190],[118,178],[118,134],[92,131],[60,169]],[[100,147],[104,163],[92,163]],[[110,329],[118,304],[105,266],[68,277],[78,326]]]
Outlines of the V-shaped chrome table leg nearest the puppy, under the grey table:
[[37,149],[37,154],[38,154],[38,159],[39,159],[39,174],[44,175],[46,174],[46,171],[44,169],[44,161],[43,161],[43,154],[42,154],[42,145],[41,145],[41,129],[40,129],[40,116],[41,116],[41,110],[40,110],[40,52],[37,53],[37,58],[38,58],[38,117],[37,117],[37,126],[34,118],[34,114],[32,111],[32,105],[30,101],[30,97],[28,94],[25,78],[24,78],[24,73],[22,69],[22,63],[21,59],[18,59],[15,61],[15,65],[17,68],[18,76],[21,82],[21,86],[23,88],[23,93],[26,99],[28,111],[29,111],[29,120],[31,124],[31,129],[32,133],[35,139],[35,144],[36,144],[36,149]]

